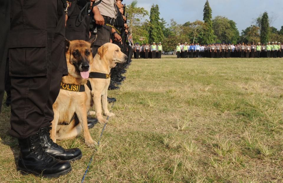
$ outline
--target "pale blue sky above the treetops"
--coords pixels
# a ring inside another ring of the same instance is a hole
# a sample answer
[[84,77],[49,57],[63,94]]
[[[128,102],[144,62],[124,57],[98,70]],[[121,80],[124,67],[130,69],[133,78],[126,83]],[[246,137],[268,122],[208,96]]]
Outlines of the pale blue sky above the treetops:
[[[167,23],[174,19],[178,24],[196,19],[203,20],[203,6],[206,0],[138,0],[138,6],[148,11],[152,4],[158,4],[160,17]],[[283,26],[283,0],[208,0],[212,9],[212,17],[225,16],[236,22],[239,32],[249,27],[253,20],[268,12],[269,18],[274,17],[272,26],[278,30]],[[124,0],[130,4],[132,0]]]

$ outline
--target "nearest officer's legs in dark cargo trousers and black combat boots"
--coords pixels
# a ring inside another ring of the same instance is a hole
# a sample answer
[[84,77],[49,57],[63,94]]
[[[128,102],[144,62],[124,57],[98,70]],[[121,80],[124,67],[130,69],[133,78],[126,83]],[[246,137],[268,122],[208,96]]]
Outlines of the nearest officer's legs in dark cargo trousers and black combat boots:
[[82,156],[78,148],[58,146],[49,133],[54,117],[52,104],[62,76],[68,74],[66,8],[62,0],[11,0],[9,133],[19,140],[18,169],[45,177],[67,174],[71,171],[69,161]]

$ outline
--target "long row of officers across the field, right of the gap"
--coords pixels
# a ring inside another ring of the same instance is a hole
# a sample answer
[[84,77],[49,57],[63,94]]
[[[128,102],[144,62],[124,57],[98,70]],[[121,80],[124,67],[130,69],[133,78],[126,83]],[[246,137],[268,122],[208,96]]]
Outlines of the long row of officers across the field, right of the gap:
[[225,44],[213,43],[208,45],[178,43],[177,58],[277,58],[283,57],[283,45],[279,42]]

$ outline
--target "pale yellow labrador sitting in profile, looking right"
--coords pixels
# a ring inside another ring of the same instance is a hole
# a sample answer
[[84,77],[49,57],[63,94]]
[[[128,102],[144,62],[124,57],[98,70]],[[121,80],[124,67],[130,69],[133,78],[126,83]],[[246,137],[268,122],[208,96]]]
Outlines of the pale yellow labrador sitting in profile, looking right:
[[124,63],[128,57],[121,52],[118,45],[106,43],[98,48],[98,52],[90,64],[89,81],[91,84],[91,95],[94,103],[94,111],[90,111],[89,115],[96,115],[98,122],[106,123],[106,119],[102,116],[102,108],[106,116],[115,116],[108,110],[107,91],[110,84],[110,70],[117,63]]

